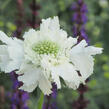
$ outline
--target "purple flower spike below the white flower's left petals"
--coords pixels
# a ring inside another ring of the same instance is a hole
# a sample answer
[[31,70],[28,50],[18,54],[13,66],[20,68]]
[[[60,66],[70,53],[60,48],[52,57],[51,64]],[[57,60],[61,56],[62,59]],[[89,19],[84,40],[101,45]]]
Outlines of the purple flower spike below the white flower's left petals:
[[29,99],[29,94],[23,90],[18,90],[22,85],[21,82],[17,80],[18,75],[15,72],[11,72],[11,78],[13,81],[13,93],[11,98],[11,109],[29,109],[27,106],[27,100]]

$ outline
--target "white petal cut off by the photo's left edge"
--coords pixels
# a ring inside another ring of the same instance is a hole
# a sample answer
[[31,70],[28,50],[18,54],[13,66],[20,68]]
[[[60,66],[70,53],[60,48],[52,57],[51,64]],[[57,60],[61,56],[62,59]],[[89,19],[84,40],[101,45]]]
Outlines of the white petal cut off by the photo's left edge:
[[23,41],[16,38],[9,38],[5,33],[0,31],[0,68],[1,71],[9,73],[19,69],[23,60]]

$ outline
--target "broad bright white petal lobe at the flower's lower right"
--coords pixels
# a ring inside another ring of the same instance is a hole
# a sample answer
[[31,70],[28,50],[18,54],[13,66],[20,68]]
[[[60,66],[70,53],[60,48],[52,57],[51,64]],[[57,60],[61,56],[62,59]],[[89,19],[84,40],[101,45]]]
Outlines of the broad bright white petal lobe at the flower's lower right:
[[[78,88],[81,79],[72,64],[65,62],[63,64],[52,67],[51,70],[52,73],[55,73],[55,75],[63,78],[68,87],[73,89]],[[70,85],[71,83],[73,84],[72,86]]]

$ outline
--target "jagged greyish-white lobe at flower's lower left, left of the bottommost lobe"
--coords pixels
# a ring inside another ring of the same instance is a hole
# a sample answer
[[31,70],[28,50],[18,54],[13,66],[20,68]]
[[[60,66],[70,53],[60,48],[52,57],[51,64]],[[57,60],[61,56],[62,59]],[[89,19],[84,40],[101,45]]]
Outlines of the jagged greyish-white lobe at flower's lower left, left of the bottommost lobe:
[[18,80],[23,82],[23,86],[20,89],[32,92],[37,87],[40,79],[40,70],[33,64],[24,62],[16,73],[22,74],[18,77]]

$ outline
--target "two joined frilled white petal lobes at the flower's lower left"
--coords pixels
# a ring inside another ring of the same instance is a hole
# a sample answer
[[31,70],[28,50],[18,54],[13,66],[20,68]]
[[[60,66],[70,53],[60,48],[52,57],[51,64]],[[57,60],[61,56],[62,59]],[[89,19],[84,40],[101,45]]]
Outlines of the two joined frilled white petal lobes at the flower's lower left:
[[[40,67],[34,66],[32,63],[24,62],[17,74],[22,74],[18,77],[19,81],[24,84],[20,89],[32,92],[37,86],[44,94],[51,93],[51,82],[43,75]],[[29,89],[29,86],[31,89]]]

